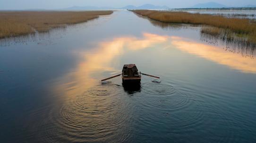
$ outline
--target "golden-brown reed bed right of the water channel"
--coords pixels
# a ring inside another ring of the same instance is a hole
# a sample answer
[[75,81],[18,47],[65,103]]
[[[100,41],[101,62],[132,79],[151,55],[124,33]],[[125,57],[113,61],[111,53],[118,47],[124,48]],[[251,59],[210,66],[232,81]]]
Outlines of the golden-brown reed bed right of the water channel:
[[[191,14],[156,10],[132,10],[148,18],[165,23],[202,24],[201,32],[213,36],[223,34],[226,40],[237,40],[256,47],[256,23],[250,19],[227,18],[210,14]],[[224,38],[223,37],[223,38]]]

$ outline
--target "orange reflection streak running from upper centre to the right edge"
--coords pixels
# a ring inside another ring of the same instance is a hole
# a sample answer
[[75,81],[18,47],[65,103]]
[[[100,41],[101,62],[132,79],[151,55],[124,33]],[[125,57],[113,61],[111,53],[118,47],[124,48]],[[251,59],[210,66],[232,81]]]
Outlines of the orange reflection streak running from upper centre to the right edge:
[[256,59],[246,58],[240,54],[230,53],[216,46],[205,45],[180,37],[171,37],[171,43],[182,51],[203,57],[218,64],[227,65],[232,69],[246,73],[256,73]]

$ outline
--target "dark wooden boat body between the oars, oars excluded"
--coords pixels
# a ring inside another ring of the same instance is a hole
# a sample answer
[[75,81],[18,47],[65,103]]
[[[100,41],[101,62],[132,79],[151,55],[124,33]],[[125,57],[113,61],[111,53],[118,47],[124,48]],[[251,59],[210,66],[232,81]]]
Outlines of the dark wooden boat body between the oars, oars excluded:
[[125,64],[122,70],[123,84],[140,84],[141,75],[135,64]]

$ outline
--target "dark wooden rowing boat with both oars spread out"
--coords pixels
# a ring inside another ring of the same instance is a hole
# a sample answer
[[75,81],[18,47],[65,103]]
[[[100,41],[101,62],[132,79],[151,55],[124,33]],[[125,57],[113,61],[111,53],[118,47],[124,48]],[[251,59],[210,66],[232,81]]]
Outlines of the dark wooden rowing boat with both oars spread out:
[[127,86],[140,85],[141,75],[146,75],[146,76],[150,76],[150,77],[153,77],[153,78],[160,79],[160,77],[157,77],[157,76],[153,76],[153,75],[145,74],[145,73],[142,73],[142,72],[138,72],[137,66],[135,64],[125,64],[123,66],[123,70],[122,70],[121,74],[109,77],[107,79],[102,79],[101,81],[105,81],[105,80],[108,80],[108,79],[119,77],[120,75],[122,75],[123,85],[127,85]]

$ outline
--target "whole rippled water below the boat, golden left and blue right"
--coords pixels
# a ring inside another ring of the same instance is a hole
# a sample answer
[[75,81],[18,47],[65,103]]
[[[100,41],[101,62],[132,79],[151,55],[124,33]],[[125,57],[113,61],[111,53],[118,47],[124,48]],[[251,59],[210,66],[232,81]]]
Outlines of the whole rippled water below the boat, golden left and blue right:
[[[154,135],[168,133],[167,138],[177,141],[199,134],[202,142],[209,138],[238,141],[235,130],[229,128],[236,123],[222,114],[221,108],[197,95],[153,82],[143,84],[139,94],[134,96],[135,106],[131,106],[123,88],[110,83],[69,97],[63,106],[52,108],[44,116],[47,119],[40,126],[40,138],[48,143],[129,142],[133,135],[147,135],[150,129]],[[134,134],[137,129],[139,133]]]

